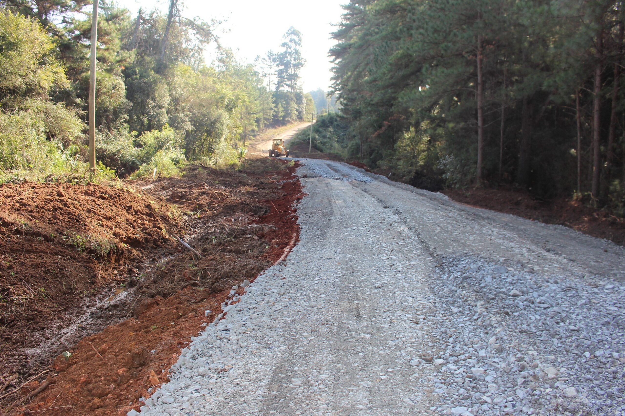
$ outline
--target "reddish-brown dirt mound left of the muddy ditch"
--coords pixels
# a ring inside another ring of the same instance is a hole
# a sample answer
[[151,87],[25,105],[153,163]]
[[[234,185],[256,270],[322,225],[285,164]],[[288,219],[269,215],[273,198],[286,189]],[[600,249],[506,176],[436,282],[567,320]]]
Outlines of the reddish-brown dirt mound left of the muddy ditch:
[[[146,251],[173,246],[160,203],[105,185],[0,186],[0,377],[48,364],[63,329]],[[64,334],[63,334],[64,335]],[[44,351],[31,349],[46,345]],[[48,350],[48,351],[45,351]]]

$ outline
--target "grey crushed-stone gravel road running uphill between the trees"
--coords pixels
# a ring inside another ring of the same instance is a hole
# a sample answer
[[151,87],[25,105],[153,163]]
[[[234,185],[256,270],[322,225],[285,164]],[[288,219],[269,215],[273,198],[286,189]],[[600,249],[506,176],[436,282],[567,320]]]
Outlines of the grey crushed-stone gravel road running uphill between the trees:
[[300,243],[141,415],[625,416],[622,247],[302,162]]

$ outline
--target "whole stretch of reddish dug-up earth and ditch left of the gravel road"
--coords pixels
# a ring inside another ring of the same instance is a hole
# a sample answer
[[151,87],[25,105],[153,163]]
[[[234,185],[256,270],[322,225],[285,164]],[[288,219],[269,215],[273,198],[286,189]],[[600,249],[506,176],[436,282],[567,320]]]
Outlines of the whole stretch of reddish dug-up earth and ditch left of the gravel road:
[[0,186],[0,414],[138,409],[232,286],[297,239],[295,169],[257,158],[124,187]]

